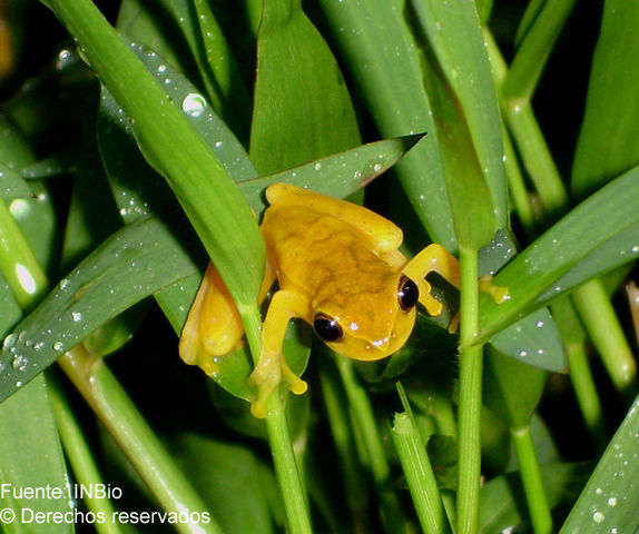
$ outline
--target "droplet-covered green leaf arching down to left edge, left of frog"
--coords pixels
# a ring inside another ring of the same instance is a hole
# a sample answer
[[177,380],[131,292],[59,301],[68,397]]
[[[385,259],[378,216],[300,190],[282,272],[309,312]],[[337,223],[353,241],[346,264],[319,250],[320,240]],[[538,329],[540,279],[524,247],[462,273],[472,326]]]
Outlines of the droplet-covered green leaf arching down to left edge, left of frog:
[[114,235],[4,340],[0,399],[11,395],[98,326],[196,267],[154,218]]

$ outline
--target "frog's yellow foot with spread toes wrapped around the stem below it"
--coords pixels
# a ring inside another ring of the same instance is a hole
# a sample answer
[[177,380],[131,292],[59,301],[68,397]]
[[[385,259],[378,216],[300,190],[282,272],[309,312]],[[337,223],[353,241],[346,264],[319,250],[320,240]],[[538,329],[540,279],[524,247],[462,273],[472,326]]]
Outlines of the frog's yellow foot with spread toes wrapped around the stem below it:
[[306,383],[291,370],[282,353],[259,358],[255,369],[248,377],[248,385],[257,388],[257,396],[250,404],[250,413],[254,417],[263,419],[266,417],[268,399],[279,387],[286,383],[295,395],[306,392]]

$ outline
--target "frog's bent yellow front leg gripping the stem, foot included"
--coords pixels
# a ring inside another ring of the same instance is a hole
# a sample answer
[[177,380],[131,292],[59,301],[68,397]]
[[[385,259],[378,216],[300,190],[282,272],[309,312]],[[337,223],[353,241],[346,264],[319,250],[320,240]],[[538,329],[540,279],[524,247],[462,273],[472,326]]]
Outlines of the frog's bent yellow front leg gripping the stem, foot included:
[[262,353],[248,377],[248,384],[257,388],[257,396],[250,405],[255,417],[266,416],[268,399],[282,382],[287,383],[295,395],[306,392],[306,383],[288,367],[282,345],[288,322],[307,315],[308,304],[295,293],[281,289],[273,296],[262,325]]

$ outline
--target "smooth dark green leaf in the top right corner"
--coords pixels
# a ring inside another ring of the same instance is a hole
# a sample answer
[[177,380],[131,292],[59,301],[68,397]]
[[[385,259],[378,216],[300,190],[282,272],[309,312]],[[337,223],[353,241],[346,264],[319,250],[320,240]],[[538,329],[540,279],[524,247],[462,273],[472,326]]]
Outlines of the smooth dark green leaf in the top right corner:
[[639,165],[639,3],[607,0],[572,167],[581,197]]

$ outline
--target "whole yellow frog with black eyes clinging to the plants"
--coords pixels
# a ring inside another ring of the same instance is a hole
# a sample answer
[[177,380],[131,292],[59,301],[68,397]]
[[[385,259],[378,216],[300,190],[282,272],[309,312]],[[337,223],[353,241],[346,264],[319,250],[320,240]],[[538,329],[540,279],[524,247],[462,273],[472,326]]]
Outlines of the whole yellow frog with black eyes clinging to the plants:
[[[441,313],[425,280],[429,273],[460,285],[459,263],[441,245],[429,245],[409,261],[399,250],[402,230],[366,208],[288,184],[272,185],[266,198],[260,229],[267,265],[259,301],[276,279],[278,289],[248,378],[257,387],[250,407],[256,417],[266,415],[266,403],[282,382],[295,394],[306,390],[282,353],[292,318],[313,325],[336,353],[372,362],[405,344],[417,301],[431,315]],[[180,356],[213,375],[214,358],[240,346],[243,335],[237,308],[210,264],[184,326]]]

